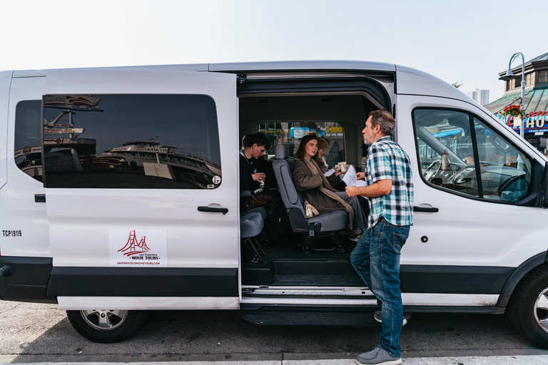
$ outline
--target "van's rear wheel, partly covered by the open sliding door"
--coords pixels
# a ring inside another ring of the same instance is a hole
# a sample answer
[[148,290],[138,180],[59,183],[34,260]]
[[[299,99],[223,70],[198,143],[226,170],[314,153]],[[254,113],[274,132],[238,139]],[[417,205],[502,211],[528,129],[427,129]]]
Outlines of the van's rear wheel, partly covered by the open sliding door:
[[117,342],[134,334],[145,322],[145,311],[91,309],[66,311],[72,327],[94,342]]

